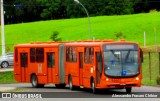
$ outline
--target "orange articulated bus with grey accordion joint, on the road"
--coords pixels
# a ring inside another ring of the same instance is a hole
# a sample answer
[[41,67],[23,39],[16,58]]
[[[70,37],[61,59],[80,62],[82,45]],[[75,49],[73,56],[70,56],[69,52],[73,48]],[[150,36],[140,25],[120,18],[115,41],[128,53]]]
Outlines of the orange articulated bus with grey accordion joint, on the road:
[[14,47],[14,77],[33,87],[55,84],[73,90],[140,87],[143,52],[134,42],[112,40],[35,42]]

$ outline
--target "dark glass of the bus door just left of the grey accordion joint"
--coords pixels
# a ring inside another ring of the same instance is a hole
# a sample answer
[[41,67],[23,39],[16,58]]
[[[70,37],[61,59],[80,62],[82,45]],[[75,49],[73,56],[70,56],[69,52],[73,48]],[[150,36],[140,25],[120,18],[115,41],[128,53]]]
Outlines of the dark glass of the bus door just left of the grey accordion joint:
[[47,67],[55,66],[55,53],[47,53]]

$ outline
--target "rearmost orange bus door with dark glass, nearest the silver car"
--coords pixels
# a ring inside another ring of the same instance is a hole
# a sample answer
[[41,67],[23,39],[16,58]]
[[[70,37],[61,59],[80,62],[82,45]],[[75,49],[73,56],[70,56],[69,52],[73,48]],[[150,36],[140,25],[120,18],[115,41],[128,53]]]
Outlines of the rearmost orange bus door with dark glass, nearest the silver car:
[[26,69],[28,67],[28,53],[20,53],[20,65],[21,65],[21,81],[26,81]]

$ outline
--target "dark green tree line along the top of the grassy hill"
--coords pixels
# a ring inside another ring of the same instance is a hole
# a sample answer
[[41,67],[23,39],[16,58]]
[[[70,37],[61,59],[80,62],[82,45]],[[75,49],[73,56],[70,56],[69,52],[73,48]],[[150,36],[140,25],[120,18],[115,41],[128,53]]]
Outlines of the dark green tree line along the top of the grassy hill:
[[[159,0],[79,0],[90,16],[124,15],[160,10]],[[5,24],[86,17],[74,0],[4,0]]]

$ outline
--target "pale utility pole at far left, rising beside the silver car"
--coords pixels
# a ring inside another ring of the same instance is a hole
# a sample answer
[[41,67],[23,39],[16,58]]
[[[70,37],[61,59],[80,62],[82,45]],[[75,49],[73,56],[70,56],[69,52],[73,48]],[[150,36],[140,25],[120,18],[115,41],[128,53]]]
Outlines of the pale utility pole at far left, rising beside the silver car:
[[1,0],[1,41],[2,41],[2,56],[5,55],[5,36],[4,36],[4,10],[3,0]]

